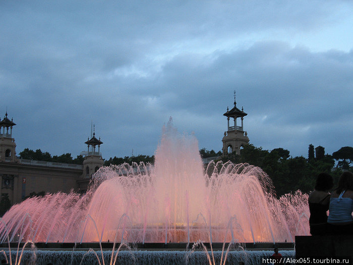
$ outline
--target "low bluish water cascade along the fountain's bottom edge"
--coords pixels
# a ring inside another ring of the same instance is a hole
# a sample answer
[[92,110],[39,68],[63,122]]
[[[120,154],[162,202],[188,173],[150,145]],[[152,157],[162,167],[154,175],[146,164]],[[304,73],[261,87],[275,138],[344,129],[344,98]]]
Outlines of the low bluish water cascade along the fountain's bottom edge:
[[[295,257],[295,251],[293,250],[281,250],[280,253],[283,257]],[[101,260],[101,253],[96,253]],[[52,263],[53,265],[62,264],[97,264],[97,256],[95,253],[87,251],[49,251],[49,250],[37,250],[35,262],[37,264]],[[116,252],[114,253],[116,254]],[[208,264],[208,256],[211,260],[212,253],[208,251],[120,251],[117,255],[116,264],[144,264],[144,265],[158,265],[158,264],[175,264],[175,265],[204,265]],[[244,261],[245,264],[267,264],[264,259],[270,258],[273,251],[229,251],[226,256],[226,264],[238,264],[240,261]],[[7,251],[7,255],[9,255]],[[111,251],[103,251],[104,263],[109,264],[111,258]],[[16,252],[12,252],[13,260],[16,259]],[[215,264],[220,264],[222,258],[222,251],[213,251],[213,257]],[[222,260],[224,261],[225,252],[223,253]],[[21,263],[29,263],[34,260],[33,251],[25,250],[22,256]],[[213,262],[212,262],[213,263]]]

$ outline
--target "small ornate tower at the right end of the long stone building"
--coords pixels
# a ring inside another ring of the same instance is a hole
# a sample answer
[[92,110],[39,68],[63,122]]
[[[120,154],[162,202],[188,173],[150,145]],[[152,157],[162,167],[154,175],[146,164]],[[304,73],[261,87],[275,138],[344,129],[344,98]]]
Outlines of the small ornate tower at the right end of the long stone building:
[[[91,178],[94,173],[98,171],[100,167],[103,166],[102,154],[100,153],[100,145],[103,143],[99,139],[95,137],[95,132],[93,129],[93,136],[88,141],[85,142],[87,144],[87,152],[82,152],[81,154],[85,155],[85,159],[83,161],[83,178]],[[96,151],[96,146],[98,145],[98,151]]]

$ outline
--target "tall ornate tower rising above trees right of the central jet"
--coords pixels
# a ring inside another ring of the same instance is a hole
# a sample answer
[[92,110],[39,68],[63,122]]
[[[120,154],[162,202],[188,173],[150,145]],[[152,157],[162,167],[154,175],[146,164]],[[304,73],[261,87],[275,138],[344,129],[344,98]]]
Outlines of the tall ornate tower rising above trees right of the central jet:
[[[231,152],[236,152],[237,154],[240,154],[240,147],[244,144],[249,143],[249,138],[248,138],[248,133],[244,131],[244,117],[247,116],[244,112],[244,109],[239,110],[237,108],[237,102],[236,102],[236,91],[234,91],[234,107],[229,111],[229,108],[227,108],[227,112],[223,114],[224,116],[227,117],[228,120],[228,130],[224,132],[224,137],[222,139],[223,142],[223,148],[222,152],[223,155],[231,153]],[[233,118],[234,123],[230,124],[229,120],[230,118]],[[241,118],[242,121],[242,126],[237,125],[237,119]]]

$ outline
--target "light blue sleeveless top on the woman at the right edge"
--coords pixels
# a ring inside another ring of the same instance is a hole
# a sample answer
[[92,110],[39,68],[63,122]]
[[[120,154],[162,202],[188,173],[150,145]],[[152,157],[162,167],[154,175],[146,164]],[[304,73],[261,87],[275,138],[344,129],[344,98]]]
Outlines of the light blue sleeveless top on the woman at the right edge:
[[351,198],[343,198],[342,195],[344,192],[345,190],[339,194],[338,198],[330,199],[330,214],[327,223],[337,224],[353,222],[353,200]]

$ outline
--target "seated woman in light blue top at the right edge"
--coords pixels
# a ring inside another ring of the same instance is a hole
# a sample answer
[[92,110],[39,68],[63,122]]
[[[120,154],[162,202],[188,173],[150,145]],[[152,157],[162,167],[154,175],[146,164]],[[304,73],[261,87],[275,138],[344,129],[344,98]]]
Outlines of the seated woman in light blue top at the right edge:
[[353,174],[343,172],[330,198],[329,224],[332,234],[353,235]]

